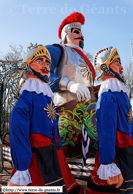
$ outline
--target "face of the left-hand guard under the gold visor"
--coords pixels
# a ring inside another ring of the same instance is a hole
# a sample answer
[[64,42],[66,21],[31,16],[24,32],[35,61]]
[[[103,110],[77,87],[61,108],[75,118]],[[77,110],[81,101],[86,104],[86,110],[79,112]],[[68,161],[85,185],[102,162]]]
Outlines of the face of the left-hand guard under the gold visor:
[[35,72],[40,73],[42,76],[50,76],[51,62],[44,56],[37,57],[34,61],[31,62],[30,67]]

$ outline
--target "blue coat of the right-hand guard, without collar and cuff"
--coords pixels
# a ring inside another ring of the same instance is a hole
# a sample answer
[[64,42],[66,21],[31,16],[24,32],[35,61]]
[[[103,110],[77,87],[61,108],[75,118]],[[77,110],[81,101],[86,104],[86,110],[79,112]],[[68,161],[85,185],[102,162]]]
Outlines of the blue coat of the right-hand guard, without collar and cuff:
[[127,115],[130,109],[130,101],[124,92],[109,91],[99,97],[96,118],[101,164],[114,162],[117,131],[122,131],[133,139],[132,125],[129,124]]

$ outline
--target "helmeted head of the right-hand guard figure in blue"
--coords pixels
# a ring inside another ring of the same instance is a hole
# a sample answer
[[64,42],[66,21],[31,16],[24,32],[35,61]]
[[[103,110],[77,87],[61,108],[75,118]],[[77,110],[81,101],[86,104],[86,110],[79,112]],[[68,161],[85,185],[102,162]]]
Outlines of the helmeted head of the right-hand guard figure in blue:
[[104,48],[95,54],[94,65],[98,80],[101,80],[107,74],[124,82],[120,55],[116,48],[112,48]]

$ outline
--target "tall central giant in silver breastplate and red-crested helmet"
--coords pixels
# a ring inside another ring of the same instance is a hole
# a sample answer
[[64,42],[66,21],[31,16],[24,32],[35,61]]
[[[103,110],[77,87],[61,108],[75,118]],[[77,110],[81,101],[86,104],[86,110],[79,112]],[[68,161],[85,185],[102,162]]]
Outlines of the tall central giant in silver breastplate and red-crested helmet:
[[49,85],[58,106],[59,130],[67,158],[83,165],[88,157],[89,145],[96,146],[95,102],[90,101],[89,87],[93,86],[95,70],[83,50],[81,31],[85,18],[81,13],[70,14],[61,23],[60,44],[46,46],[52,57]]

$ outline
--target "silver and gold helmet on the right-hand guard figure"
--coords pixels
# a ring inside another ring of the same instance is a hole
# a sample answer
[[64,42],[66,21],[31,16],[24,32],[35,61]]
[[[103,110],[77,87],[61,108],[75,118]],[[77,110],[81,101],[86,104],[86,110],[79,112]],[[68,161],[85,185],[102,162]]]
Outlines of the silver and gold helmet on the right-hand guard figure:
[[104,48],[95,54],[94,66],[98,74],[97,80],[101,80],[101,78],[106,73],[108,75],[115,76],[116,78],[124,82],[124,78],[110,68],[110,64],[115,59],[120,58],[120,55],[117,49],[116,48],[112,49],[112,48],[113,48],[112,46]]

